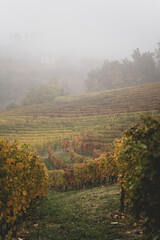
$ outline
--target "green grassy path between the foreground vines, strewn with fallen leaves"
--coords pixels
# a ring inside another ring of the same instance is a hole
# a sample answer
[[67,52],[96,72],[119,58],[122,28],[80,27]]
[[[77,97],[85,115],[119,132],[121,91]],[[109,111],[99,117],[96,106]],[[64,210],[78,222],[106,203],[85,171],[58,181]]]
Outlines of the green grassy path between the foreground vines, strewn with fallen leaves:
[[138,235],[127,235],[129,229],[110,216],[119,209],[119,197],[118,186],[49,192],[46,200],[30,209],[17,237],[25,240],[139,239]]

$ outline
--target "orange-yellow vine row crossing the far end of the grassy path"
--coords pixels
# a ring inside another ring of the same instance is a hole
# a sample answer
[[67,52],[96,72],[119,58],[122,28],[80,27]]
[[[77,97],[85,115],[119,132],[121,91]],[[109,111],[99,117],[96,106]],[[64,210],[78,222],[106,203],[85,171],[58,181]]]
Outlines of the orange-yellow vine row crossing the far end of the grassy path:
[[50,184],[56,189],[83,188],[117,181],[117,169],[111,153],[83,163],[75,163],[65,171],[51,171],[50,175]]

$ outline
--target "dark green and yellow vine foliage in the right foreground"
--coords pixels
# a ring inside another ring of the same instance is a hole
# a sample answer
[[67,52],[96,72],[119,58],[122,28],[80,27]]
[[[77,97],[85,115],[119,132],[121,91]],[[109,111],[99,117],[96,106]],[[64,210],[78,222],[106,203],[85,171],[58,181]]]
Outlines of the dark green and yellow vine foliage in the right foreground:
[[146,239],[159,239],[160,119],[142,117],[126,131],[116,143],[115,160],[133,219],[145,222]]

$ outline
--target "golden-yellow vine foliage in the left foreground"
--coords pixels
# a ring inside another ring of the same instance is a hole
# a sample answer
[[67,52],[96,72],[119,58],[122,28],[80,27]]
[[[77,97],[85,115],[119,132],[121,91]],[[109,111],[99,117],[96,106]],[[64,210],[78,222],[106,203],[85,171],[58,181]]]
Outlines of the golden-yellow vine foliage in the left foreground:
[[47,194],[47,175],[37,153],[16,141],[0,141],[0,230],[2,235],[37,197]]

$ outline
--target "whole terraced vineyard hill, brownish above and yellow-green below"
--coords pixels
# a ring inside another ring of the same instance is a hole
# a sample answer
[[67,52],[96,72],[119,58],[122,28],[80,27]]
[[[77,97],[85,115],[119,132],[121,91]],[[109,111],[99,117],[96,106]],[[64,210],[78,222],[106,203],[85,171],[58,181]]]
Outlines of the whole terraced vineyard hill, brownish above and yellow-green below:
[[111,144],[142,113],[159,110],[160,83],[58,97],[49,103],[1,112],[0,137],[29,143],[39,152],[88,132]]

